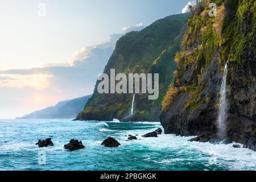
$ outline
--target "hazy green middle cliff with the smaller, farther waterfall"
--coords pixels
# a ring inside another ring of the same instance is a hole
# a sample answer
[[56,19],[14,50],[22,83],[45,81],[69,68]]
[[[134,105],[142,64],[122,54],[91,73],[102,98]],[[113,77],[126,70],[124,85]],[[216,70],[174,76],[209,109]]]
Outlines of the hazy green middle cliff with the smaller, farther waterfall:
[[[148,100],[147,94],[135,94],[134,114],[130,115],[133,94],[99,94],[97,85],[92,98],[77,119],[112,121],[159,121],[161,102],[173,82],[174,56],[186,31],[188,14],[160,19],[139,32],[129,32],[118,40],[104,73],[159,73],[159,98]],[[116,82],[117,83],[117,82]]]

